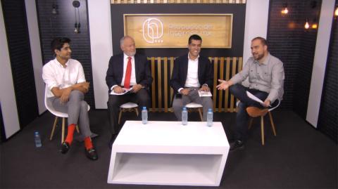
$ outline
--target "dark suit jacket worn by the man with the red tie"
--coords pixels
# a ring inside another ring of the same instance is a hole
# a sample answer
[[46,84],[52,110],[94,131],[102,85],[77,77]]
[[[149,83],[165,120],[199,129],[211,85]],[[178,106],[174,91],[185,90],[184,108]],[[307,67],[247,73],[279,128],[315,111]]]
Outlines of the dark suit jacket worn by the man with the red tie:
[[[153,82],[148,60],[140,54],[135,54],[135,74],[136,83],[148,88]],[[111,93],[111,87],[120,86],[123,77],[123,53],[112,56],[109,60],[108,70],[106,74],[106,84]]]

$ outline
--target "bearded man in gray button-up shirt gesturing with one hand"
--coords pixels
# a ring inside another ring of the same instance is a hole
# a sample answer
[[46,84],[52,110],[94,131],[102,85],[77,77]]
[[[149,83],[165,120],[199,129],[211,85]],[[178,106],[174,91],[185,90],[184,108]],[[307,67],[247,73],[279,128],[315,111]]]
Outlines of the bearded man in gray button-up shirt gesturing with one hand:
[[[282,61],[270,55],[268,44],[263,37],[251,40],[252,57],[247,60],[243,70],[235,74],[229,81],[218,79],[218,90],[230,89],[230,93],[240,100],[236,116],[235,141],[230,143],[230,151],[244,148],[247,121],[249,116],[258,117],[268,112],[282,100],[284,93],[284,67]],[[249,87],[241,83],[249,77]],[[258,103],[246,95],[249,91],[263,103]]]

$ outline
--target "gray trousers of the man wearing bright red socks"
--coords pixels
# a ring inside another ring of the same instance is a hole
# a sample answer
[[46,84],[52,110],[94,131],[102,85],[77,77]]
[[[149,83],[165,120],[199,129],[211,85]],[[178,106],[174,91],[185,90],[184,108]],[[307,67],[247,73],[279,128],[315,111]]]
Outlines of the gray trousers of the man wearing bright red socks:
[[61,103],[60,98],[55,96],[48,100],[51,100],[56,111],[68,114],[68,125],[77,124],[83,137],[92,135],[89,128],[88,104],[84,101],[81,91],[71,91],[67,103]]

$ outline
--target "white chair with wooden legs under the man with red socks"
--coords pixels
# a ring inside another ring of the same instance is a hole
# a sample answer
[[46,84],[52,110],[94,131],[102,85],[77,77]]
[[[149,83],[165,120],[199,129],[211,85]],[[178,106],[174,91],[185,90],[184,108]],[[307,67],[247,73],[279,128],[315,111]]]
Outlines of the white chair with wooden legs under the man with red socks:
[[[56,123],[58,122],[58,117],[62,117],[62,133],[61,133],[61,143],[63,143],[65,138],[65,118],[68,117],[68,114],[63,112],[58,112],[54,109],[53,105],[51,105],[51,101],[47,99],[47,86],[44,90],[44,105],[46,106],[47,110],[51,112],[51,114],[55,115],[54,125],[53,129],[51,130],[51,136],[49,137],[49,140],[53,138],[54,131],[56,128]],[[88,105],[88,111],[90,110],[90,106]],[[79,127],[76,126],[77,133],[80,133]]]

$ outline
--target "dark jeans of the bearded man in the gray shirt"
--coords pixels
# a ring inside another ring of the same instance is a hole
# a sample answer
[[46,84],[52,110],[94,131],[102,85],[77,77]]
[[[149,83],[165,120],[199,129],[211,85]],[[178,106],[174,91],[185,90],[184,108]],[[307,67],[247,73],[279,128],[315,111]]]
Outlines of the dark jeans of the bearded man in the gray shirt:
[[[230,86],[229,90],[234,97],[241,101],[238,105],[238,112],[236,115],[234,139],[239,141],[246,141],[249,120],[249,115],[248,112],[246,112],[246,107],[254,106],[263,108],[263,105],[249,98],[246,95],[246,91],[249,91],[254,96],[261,99],[263,102],[268,97],[268,93],[264,91],[259,91],[257,89],[249,89],[245,86],[242,86],[242,84],[234,84]],[[275,102],[271,106],[274,107],[275,105],[277,105],[277,103],[278,100],[275,100]]]

